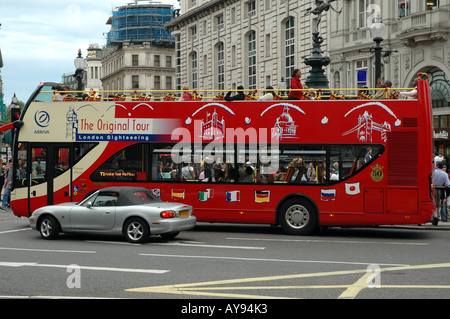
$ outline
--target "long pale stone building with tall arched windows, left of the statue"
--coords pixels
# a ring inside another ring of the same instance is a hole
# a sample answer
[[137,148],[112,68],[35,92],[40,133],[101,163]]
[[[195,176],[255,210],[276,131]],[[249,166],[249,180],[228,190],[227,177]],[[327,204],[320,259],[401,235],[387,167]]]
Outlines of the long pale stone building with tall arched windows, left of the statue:
[[[289,87],[292,71],[308,76],[317,16],[297,0],[181,0],[181,14],[166,24],[176,39],[176,88],[228,90]],[[339,4],[336,4],[339,5]],[[327,16],[322,50],[327,50]],[[284,84],[283,84],[284,83]]]

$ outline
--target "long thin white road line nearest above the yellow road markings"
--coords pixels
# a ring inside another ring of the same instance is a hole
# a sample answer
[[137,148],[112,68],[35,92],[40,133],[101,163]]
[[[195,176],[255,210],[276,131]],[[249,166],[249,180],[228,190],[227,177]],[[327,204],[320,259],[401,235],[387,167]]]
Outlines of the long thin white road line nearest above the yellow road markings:
[[[270,259],[270,258],[247,258],[247,257],[226,257],[226,256],[192,256],[192,255],[164,255],[164,254],[139,254],[140,256],[153,257],[169,257],[169,258],[195,258],[195,259],[226,259],[226,260],[241,260],[241,261],[264,261],[277,263],[317,263],[317,264],[343,264],[343,265],[371,265],[373,262],[350,262],[350,261],[331,261],[331,260],[296,260],[296,259]],[[383,264],[376,263],[380,266],[409,266],[405,264]]]

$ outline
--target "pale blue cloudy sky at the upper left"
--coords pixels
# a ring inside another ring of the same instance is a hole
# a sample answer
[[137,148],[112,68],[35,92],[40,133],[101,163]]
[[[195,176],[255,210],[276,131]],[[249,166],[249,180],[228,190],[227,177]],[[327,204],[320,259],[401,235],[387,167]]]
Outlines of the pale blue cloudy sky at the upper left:
[[[0,0],[3,102],[24,103],[40,82],[60,82],[75,71],[91,43],[106,44],[106,21],[115,7],[133,0]],[[159,0],[179,8],[176,0]],[[148,3],[147,1],[142,3]]]

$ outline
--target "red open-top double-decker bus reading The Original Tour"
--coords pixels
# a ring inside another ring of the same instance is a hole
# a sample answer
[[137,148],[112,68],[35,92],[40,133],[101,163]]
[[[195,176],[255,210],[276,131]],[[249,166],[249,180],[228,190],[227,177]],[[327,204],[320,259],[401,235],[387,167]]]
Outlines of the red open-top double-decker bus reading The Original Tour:
[[192,205],[199,222],[289,234],[431,219],[426,80],[414,100],[56,101],[54,85],[14,125],[17,216],[136,185]]

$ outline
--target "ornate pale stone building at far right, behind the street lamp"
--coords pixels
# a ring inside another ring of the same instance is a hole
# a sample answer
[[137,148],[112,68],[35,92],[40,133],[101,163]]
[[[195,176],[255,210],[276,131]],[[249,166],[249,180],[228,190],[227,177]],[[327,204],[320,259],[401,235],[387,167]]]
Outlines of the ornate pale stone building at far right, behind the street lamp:
[[[450,0],[345,0],[329,13],[330,87],[374,87],[375,46],[370,26],[386,25],[381,76],[393,87],[411,87],[425,72],[432,88],[436,150],[450,157]],[[386,52],[390,53],[387,56]]]

